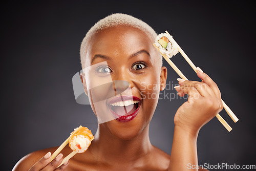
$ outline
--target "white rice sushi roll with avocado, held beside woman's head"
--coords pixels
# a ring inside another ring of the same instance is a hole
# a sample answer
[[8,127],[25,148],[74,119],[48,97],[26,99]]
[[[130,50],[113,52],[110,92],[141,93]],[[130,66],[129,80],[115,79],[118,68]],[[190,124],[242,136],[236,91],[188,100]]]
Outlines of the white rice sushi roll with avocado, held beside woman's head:
[[160,33],[155,39],[155,45],[159,48],[159,51],[168,58],[173,57],[179,52],[178,45],[172,39],[173,36],[167,33]]

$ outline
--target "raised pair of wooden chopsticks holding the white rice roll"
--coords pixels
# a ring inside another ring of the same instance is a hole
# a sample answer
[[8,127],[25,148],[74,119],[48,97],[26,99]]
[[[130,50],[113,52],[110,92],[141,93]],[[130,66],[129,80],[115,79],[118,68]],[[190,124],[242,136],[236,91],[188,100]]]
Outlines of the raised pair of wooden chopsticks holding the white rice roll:
[[[180,48],[180,46],[177,44],[177,42],[173,39],[173,36],[171,36],[167,31],[165,31],[166,34],[168,34],[170,38],[170,42],[172,44],[176,44],[178,51],[181,53],[181,55],[185,58],[185,60],[189,63],[189,65],[194,69],[194,71],[197,73],[197,67],[194,65],[194,63],[188,58],[188,56],[185,54],[185,52]],[[153,44],[155,48],[161,53],[159,50],[159,47],[157,47],[155,44]],[[167,46],[167,45],[166,45]],[[169,59],[169,57],[163,53],[161,53],[163,58],[169,63],[169,65],[175,70],[175,72],[184,80],[188,80],[185,75],[176,67],[176,65],[173,63],[172,60]],[[233,112],[228,108],[226,103],[222,100],[223,106],[225,111],[228,113],[228,115],[232,118],[234,122],[237,122],[239,119],[236,117],[236,115],[233,114]],[[216,115],[217,119],[222,123],[222,125],[227,129],[228,132],[232,130],[232,128],[229,126],[229,124],[219,115]]]

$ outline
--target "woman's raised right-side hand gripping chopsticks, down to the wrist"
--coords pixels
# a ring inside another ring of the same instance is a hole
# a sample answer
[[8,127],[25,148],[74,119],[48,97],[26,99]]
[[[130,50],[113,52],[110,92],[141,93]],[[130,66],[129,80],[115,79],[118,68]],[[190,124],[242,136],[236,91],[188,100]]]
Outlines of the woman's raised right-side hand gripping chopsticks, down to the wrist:
[[223,109],[221,93],[217,84],[201,69],[197,75],[203,81],[179,80],[176,88],[179,96],[188,95],[188,100],[178,109],[174,123],[192,133],[198,133],[201,127],[214,118]]

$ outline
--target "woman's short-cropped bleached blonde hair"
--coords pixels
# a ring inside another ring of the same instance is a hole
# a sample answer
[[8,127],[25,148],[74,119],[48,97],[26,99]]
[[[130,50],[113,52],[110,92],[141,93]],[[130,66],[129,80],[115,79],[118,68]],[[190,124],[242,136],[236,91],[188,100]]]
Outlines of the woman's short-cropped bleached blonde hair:
[[[81,65],[82,69],[86,67],[86,52],[87,52],[87,46],[89,44],[90,39],[93,37],[94,34],[97,32],[118,26],[118,25],[124,25],[124,26],[130,26],[133,28],[137,28],[144,33],[146,33],[152,40],[152,44],[157,37],[157,33],[155,32],[152,27],[148,26],[145,22],[142,20],[135,18],[131,15],[122,14],[122,13],[115,13],[109,16],[106,16],[103,19],[100,19],[91,29],[87,32],[86,36],[83,38],[81,47],[80,47],[80,59],[81,59]],[[159,54],[159,65],[162,66],[162,56]]]

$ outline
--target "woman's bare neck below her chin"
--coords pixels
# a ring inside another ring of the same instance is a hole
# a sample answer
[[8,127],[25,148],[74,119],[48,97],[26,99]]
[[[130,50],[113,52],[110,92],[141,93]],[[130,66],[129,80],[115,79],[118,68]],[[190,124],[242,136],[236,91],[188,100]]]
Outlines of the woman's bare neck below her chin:
[[148,125],[138,135],[129,140],[117,138],[102,125],[98,125],[95,140],[90,146],[92,154],[97,155],[99,160],[111,162],[135,162],[150,153],[153,149],[148,137]]

